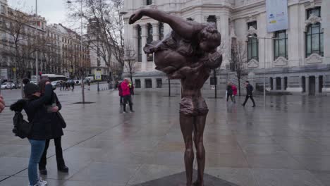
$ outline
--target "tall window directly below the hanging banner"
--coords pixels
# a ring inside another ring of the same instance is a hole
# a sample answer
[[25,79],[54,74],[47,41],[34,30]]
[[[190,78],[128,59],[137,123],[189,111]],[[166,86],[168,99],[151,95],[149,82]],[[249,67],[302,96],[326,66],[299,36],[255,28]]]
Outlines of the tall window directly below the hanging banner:
[[288,58],[288,35],[286,30],[275,32],[274,39],[274,60],[280,56]]

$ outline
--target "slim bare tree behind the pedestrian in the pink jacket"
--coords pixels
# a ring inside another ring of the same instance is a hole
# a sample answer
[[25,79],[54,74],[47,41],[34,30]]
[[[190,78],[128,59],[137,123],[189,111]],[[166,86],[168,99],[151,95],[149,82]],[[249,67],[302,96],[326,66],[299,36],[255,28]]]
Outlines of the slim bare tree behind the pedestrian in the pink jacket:
[[130,42],[125,44],[125,68],[130,74],[130,82],[133,83],[133,74],[135,73],[136,52]]

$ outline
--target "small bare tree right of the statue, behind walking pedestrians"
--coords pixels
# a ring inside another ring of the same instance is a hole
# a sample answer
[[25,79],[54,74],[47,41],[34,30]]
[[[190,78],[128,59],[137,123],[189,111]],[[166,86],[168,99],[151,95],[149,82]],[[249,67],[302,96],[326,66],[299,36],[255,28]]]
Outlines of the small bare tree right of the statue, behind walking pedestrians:
[[240,80],[246,75],[247,47],[245,42],[233,38],[231,43],[231,63],[238,79],[238,95],[240,96]]

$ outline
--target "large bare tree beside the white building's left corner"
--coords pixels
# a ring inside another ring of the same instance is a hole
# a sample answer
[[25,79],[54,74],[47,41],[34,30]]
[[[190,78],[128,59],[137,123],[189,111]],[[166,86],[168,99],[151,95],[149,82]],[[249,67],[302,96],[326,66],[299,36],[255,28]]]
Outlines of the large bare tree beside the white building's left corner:
[[[74,6],[69,5],[69,16],[72,19],[84,18],[86,23],[96,21],[97,36],[102,44],[99,52],[103,52],[104,61],[109,68],[115,68],[111,63],[111,56],[120,63],[121,71],[125,65],[124,60],[124,39],[123,39],[123,18],[120,14],[123,7],[123,0],[82,0],[84,5],[83,14]],[[92,46],[92,49],[95,46]],[[102,56],[102,55],[100,55]]]

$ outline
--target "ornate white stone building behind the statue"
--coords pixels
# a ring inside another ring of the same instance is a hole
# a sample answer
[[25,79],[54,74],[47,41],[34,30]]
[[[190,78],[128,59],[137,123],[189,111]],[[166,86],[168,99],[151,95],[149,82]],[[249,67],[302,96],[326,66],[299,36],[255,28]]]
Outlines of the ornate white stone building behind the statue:
[[135,87],[164,91],[166,75],[154,70],[152,56],[144,54],[142,48],[162,39],[171,28],[147,17],[128,25],[130,15],[140,8],[156,8],[199,23],[216,23],[224,61],[216,80],[211,77],[204,91],[211,90],[214,83],[224,89],[226,82],[235,82],[231,68],[235,40],[247,49],[243,80],[250,80],[260,91],[265,81],[271,92],[330,93],[330,1],[288,0],[288,30],[267,32],[265,0],[126,0],[122,11],[125,39],[137,51]]

